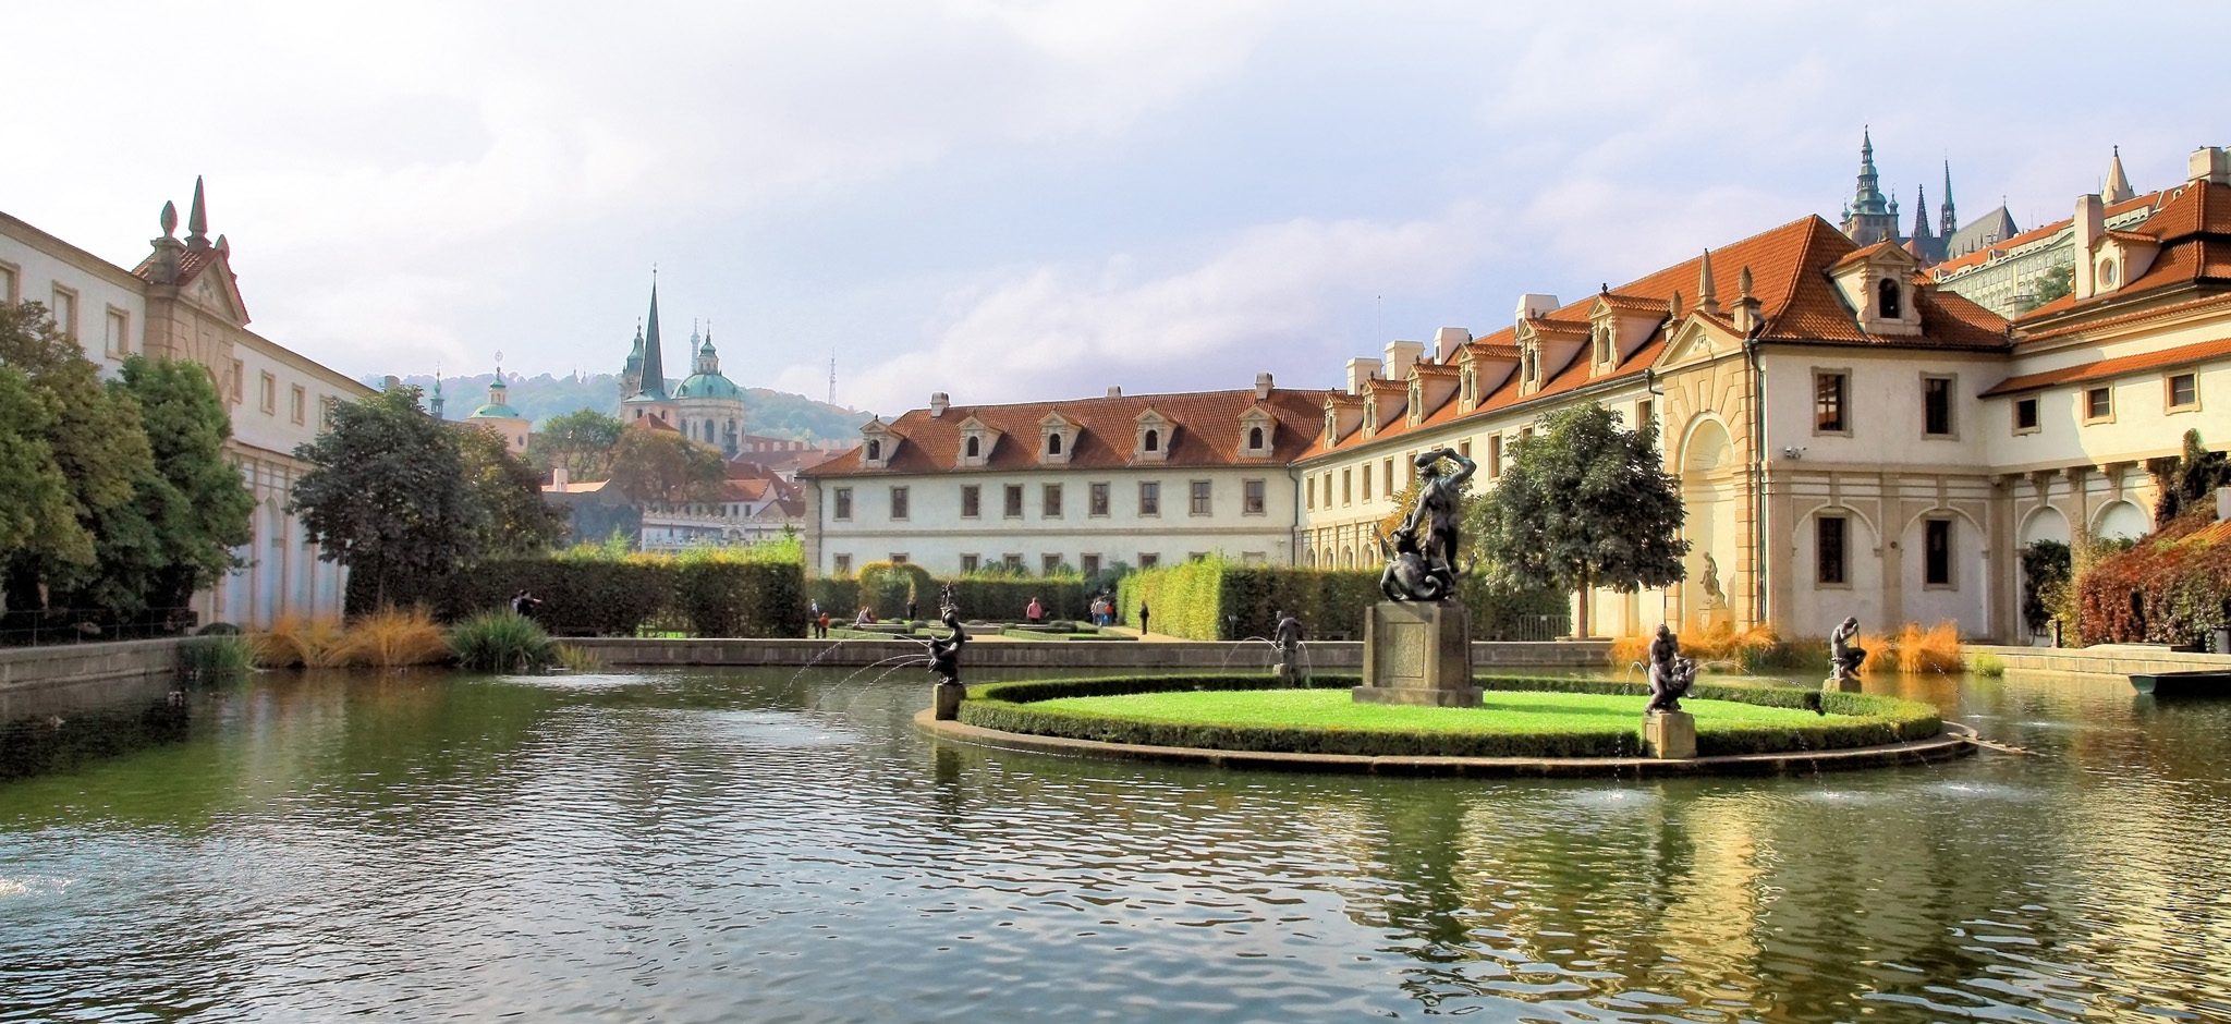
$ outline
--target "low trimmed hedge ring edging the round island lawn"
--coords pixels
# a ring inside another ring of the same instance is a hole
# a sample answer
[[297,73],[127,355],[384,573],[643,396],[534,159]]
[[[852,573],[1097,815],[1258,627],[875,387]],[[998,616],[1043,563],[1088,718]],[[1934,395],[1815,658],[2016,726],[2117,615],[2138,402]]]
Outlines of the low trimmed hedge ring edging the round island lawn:
[[[1319,674],[1310,687],[1354,687],[1356,676]],[[1564,676],[1479,676],[1486,689],[1649,696],[1642,683]],[[984,730],[1035,736],[1066,736],[1149,747],[1252,750],[1281,754],[1356,756],[1640,756],[1642,730],[1633,732],[1539,732],[1539,734],[1417,734],[1383,730],[1298,730],[1274,725],[1145,723],[1107,714],[1031,707],[1062,696],[1167,694],[1180,689],[1290,689],[1269,674],[1120,676],[991,683],[970,687],[959,721]],[[1736,701],[1762,707],[1809,709],[1814,701],[1827,718],[1809,725],[1747,725],[1698,730],[1698,754],[1771,754],[1805,750],[1867,747],[1937,736],[1937,707],[1870,694],[1823,694],[1798,687],[1747,687],[1704,683],[1689,692],[1696,701]]]

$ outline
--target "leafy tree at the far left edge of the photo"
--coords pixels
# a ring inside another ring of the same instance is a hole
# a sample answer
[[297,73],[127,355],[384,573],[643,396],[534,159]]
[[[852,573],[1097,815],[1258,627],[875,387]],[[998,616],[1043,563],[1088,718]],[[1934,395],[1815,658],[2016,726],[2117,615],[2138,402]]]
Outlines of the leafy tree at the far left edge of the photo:
[[94,361],[40,303],[0,303],[0,364],[22,375],[49,413],[42,439],[76,520],[76,529],[42,531],[33,544],[0,556],[9,607],[42,607],[40,587],[62,593],[91,587],[103,605],[134,611],[141,593],[107,587],[100,569],[103,562],[136,564],[152,542],[132,509],[154,471],[138,402],[100,384]]

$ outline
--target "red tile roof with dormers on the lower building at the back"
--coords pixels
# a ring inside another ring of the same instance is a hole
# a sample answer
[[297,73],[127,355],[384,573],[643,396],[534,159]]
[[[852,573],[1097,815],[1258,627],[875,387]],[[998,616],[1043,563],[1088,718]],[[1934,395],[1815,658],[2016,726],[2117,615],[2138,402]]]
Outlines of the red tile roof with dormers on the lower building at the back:
[[[1325,426],[1323,390],[1272,388],[1267,402],[1258,402],[1254,388],[1245,390],[1196,390],[1180,395],[1116,395],[1073,402],[1022,402],[1013,406],[950,406],[941,417],[928,408],[915,408],[890,422],[892,433],[904,439],[890,453],[890,468],[861,468],[859,448],[837,455],[819,466],[803,468],[803,477],[848,477],[848,475],[906,475],[906,473],[950,473],[959,466],[959,424],[968,417],[982,419],[993,431],[1002,431],[993,444],[986,471],[1017,468],[1116,468],[1116,466],[1283,466],[1296,460]],[[1176,424],[1165,439],[1167,457],[1160,462],[1133,462],[1131,446],[1138,435],[1138,415],[1147,408]],[[1272,431],[1272,453],[1265,460],[1243,460],[1245,431],[1240,413],[1263,408],[1276,422]],[[1037,462],[1037,422],[1049,413],[1060,413],[1078,424],[1078,437],[1066,464]],[[966,471],[964,471],[966,473]]]

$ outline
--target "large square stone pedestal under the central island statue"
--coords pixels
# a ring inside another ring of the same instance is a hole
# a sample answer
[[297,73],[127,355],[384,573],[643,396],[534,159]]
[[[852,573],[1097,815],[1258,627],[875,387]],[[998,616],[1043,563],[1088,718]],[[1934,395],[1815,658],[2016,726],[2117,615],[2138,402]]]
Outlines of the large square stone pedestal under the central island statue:
[[1472,614],[1457,602],[1381,600],[1363,616],[1356,703],[1479,707]]

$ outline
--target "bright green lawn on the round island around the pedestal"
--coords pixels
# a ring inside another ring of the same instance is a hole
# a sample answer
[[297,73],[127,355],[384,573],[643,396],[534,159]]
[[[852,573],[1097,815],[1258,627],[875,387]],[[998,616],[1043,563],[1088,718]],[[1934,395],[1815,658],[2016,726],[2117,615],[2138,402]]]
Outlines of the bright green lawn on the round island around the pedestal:
[[[1484,707],[1361,705],[1345,689],[1211,689],[1064,696],[1028,707],[1158,725],[1261,725],[1370,732],[1640,732],[1644,696],[1486,692]],[[1700,734],[1760,725],[1816,725],[1820,716],[1733,701],[1682,701]]]

